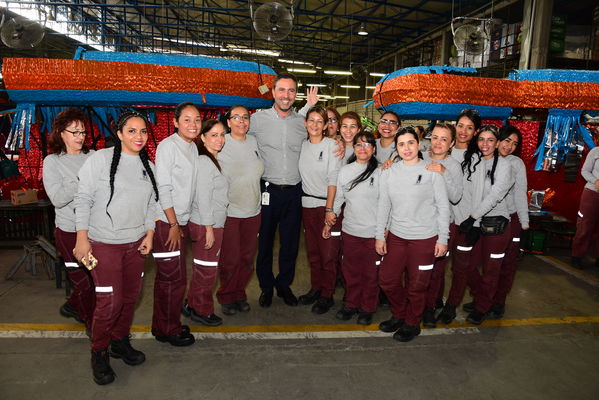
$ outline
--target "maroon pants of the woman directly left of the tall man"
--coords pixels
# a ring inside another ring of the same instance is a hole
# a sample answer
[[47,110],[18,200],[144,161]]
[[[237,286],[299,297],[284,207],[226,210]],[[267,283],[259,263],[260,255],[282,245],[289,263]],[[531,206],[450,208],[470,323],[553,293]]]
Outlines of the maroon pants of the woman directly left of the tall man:
[[219,260],[220,287],[216,298],[221,304],[245,301],[245,288],[254,273],[258,249],[260,214],[250,218],[227,217]]

